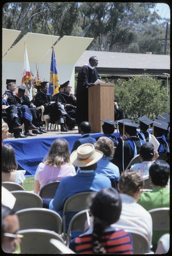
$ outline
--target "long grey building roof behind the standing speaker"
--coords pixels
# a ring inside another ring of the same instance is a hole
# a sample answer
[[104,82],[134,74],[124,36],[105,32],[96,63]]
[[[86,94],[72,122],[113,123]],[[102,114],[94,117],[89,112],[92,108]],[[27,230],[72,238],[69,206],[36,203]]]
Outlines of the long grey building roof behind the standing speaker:
[[[132,71],[160,71],[170,72],[170,55],[142,54],[142,53],[121,53],[121,52],[102,52],[102,51],[85,51],[75,63],[75,70],[79,70],[82,65],[89,62],[90,56],[97,56],[99,64],[98,71],[112,70]],[[120,73],[120,72],[119,72]]]

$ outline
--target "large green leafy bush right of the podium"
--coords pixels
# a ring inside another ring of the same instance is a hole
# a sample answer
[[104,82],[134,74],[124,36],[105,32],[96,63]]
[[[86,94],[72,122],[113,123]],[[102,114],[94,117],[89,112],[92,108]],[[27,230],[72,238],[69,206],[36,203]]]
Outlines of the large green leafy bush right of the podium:
[[119,79],[115,84],[115,100],[125,116],[134,121],[142,115],[154,119],[167,110],[166,88],[161,80],[149,75],[136,76],[128,81]]

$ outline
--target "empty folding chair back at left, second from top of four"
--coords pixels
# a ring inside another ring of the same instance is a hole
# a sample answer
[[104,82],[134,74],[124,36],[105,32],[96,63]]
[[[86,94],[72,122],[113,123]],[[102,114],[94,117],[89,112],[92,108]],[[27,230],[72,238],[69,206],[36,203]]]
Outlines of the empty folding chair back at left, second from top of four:
[[14,205],[14,211],[32,207],[43,207],[43,200],[39,195],[29,191],[11,191],[15,196],[16,201]]

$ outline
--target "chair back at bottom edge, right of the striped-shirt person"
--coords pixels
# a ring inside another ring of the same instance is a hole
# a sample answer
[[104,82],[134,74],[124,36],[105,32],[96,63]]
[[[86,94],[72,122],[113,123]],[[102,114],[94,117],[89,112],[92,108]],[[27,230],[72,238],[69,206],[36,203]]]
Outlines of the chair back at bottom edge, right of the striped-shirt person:
[[133,253],[134,254],[146,254],[149,251],[149,242],[147,238],[134,230],[127,230],[128,233],[131,233],[133,239]]

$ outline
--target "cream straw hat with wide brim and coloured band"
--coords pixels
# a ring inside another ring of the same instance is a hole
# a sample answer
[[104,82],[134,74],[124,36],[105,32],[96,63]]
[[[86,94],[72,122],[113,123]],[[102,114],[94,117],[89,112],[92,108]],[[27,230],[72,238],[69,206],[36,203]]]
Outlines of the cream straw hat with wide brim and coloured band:
[[77,167],[92,166],[100,160],[103,156],[103,152],[95,150],[95,147],[91,143],[82,144],[73,151],[70,155],[70,162]]

